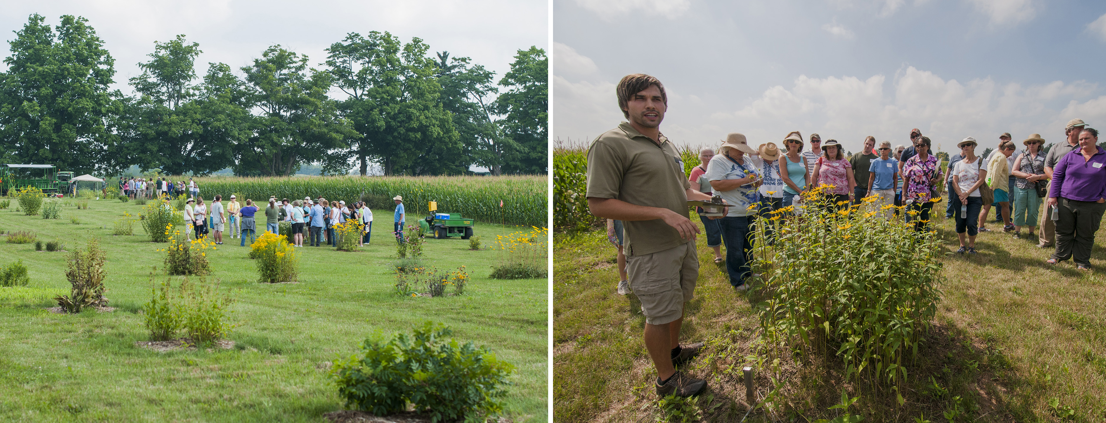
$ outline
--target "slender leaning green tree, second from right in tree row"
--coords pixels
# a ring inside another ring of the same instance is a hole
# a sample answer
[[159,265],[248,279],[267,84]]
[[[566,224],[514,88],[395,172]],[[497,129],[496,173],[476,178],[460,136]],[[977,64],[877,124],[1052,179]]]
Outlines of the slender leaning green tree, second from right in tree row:
[[494,72],[472,65],[469,57],[449,57],[439,52],[437,76],[441,84],[442,107],[453,115],[453,127],[465,147],[465,156],[499,176],[503,154],[518,145],[503,135],[502,121],[494,116],[494,95],[499,93]]

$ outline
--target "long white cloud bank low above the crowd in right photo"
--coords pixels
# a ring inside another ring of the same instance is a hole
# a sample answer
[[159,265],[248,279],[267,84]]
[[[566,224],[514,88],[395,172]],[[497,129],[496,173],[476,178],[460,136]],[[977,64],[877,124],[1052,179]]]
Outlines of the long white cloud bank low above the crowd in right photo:
[[[594,138],[623,119],[614,84],[555,80],[554,137]],[[837,139],[852,151],[869,135],[906,144],[911,128],[920,128],[943,151],[968,136],[994,147],[999,134],[1006,131],[1019,140],[1042,134],[1052,142],[1063,137],[1068,119],[1106,121],[1106,95],[1093,95],[1097,88],[1083,81],[1029,86],[991,77],[960,82],[912,66],[894,77],[799,76],[790,86],[766,87],[760,97],[729,110],[726,102],[703,99],[718,98],[718,93],[669,95],[662,130],[678,144],[698,146],[712,145],[729,131],[761,144],[797,129],[807,137],[817,133]]]

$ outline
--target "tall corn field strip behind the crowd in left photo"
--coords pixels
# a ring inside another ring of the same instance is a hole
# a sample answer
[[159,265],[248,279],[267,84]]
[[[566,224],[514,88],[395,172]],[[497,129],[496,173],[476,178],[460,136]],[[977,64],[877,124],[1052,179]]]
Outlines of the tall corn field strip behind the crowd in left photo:
[[[264,204],[270,195],[289,200],[322,197],[330,201],[365,201],[373,209],[393,209],[392,198],[403,195],[408,214],[427,213],[427,202],[436,201],[442,213],[461,213],[481,222],[547,225],[546,177],[290,177],[290,178],[198,178],[200,197],[223,201],[237,194]],[[500,207],[502,201],[503,207]]]

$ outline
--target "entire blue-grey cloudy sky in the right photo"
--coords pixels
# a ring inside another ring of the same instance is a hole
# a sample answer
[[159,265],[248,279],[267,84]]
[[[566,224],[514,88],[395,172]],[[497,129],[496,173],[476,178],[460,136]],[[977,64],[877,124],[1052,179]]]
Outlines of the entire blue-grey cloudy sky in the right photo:
[[668,92],[661,131],[690,146],[797,129],[857,151],[917,127],[949,151],[1061,140],[1073,117],[1106,129],[1102,1],[555,0],[553,17],[554,139],[613,128],[614,85],[638,72]]

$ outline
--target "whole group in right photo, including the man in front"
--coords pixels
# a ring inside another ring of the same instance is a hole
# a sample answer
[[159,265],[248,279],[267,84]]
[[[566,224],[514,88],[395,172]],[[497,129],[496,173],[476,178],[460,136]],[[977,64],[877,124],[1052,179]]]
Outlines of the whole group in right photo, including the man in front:
[[[822,207],[872,202],[886,211],[886,219],[901,210],[914,230],[925,233],[947,188],[945,216],[956,220],[959,254],[977,254],[975,236],[990,231],[984,223],[992,207],[1003,231],[1019,239],[1033,235],[1040,214],[1037,246],[1055,248],[1046,262],[1074,256],[1077,268],[1091,268],[1094,234],[1106,211],[1106,150],[1097,145],[1098,131],[1081,119],[1067,123],[1065,140],[1046,155],[1041,135],[1024,139],[1023,150],[1005,133],[987,158],[975,156],[974,138],[964,138],[943,166],[918,128],[910,130],[908,147],[881,141],[877,148],[869,136],[849,156],[839,142],[823,144],[817,134],[810,136],[806,149],[803,136],[791,131],[781,150],[775,142],[754,149],[744,135],[731,133],[717,154],[712,148],[699,151],[700,162],[688,175],[678,149],[659,129],[668,107],[664,85],[633,74],[623,77],[615,94],[627,121],[588,148],[586,198],[592,213],[607,219],[608,239],[618,247],[617,293],[633,292],[641,303],[645,345],[661,396],[693,395],[707,383],[676,370],[703,347],[679,342],[684,305],[699,275],[695,237],[700,231],[688,216],[691,200],[720,198],[730,204],[722,215],[697,211],[714,263],[724,262],[737,292],[758,276],[749,266],[755,216],[789,207],[801,214],[803,194],[815,189],[830,195]],[[1045,213],[1039,213],[1044,198]]]

